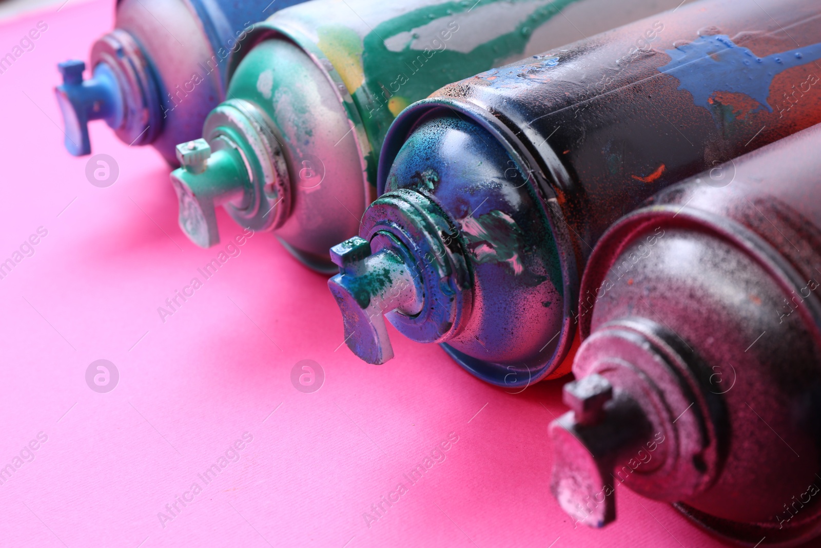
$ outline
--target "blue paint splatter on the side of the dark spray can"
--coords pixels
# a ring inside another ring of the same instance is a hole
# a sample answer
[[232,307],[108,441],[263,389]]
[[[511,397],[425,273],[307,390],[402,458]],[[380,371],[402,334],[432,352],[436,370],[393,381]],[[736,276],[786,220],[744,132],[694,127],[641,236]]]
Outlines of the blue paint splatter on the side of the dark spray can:
[[788,68],[821,59],[821,44],[759,58],[727,35],[699,36],[690,44],[665,51],[672,61],[658,71],[675,76],[681,82],[678,89],[689,91],[695,104],[707,110],[713,94],[728,91],[749,95],[772,113],[767,98],[773,78]]

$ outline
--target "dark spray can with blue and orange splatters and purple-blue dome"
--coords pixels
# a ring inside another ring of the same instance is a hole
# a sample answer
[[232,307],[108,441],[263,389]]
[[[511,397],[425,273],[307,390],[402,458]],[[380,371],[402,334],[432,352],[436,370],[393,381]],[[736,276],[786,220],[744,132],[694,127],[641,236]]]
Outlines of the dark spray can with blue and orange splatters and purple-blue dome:
[[566,373],[608,225],[821,122],[819,58],[815,0],[692,2],[407,108],[383,145],[385,193],[332,250],[348,346],[390,359],[386,314],[495,385]]

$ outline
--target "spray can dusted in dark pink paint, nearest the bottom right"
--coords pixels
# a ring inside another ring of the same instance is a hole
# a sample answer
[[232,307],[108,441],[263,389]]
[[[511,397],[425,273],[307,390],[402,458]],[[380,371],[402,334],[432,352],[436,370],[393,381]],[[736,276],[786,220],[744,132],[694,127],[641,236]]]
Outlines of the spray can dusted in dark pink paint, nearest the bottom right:
[[816,126],[716,166],[595,246],[550,427],[578,522],[624,483],[745,546],[821,534],[819,150]]

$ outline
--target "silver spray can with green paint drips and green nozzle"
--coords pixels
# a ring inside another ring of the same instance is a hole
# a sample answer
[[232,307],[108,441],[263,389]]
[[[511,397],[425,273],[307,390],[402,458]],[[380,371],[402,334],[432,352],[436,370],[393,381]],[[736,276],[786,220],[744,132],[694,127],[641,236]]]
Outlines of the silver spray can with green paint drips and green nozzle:
[[320,0],[277,12],[243,45],[204,140],[180,146],[172,182],[181,228],[212,246],[222,205],[332,273],[328,247],[358,233],[402,108],[668,2],[639,0],[624,12],[611,0]]

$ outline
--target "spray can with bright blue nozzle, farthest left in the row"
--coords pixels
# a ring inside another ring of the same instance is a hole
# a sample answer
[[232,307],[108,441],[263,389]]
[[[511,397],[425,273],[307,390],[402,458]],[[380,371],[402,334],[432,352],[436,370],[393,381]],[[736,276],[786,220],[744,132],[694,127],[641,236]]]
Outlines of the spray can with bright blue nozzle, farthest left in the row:
[[115,28],[85,62],[58,65],[56,89],[66,148],[91,153],[88,122],[104,119],[129,145],[154,145],[177,165],[174,147],[200,136],[225,98],[228,59],[256,21],[304,0],[118,0]]

